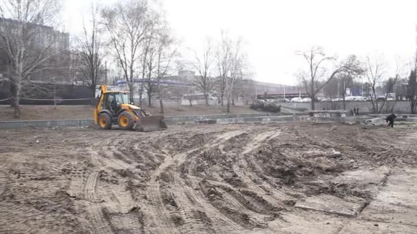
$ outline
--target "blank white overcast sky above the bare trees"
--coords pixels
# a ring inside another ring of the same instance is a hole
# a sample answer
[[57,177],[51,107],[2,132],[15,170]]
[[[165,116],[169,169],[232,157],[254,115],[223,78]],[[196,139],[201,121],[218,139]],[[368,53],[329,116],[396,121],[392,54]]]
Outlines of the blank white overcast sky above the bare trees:
[[[80,12],[91,1],[66,0],[67,31],[80,30]],[[182,54],[202,47],[207,36],[219,38],[225,29],[243,38],[259,81],[295,84],[294,73],[305,67],[295,51],[312,45],[341,58],[383,53],[392,70],[395,57],[411,60],[416,51],[417,0],[165,0],[163,4]]]

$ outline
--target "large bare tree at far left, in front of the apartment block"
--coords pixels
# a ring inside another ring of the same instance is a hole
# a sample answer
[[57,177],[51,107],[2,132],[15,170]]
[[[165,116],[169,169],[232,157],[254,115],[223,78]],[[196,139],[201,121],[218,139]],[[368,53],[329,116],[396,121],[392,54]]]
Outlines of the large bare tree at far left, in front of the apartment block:
[[49,60],[57,55],[56,37],[48,35],[39,43],[39,25],[57,22],[60,4],[56,0],[5,0],[0,4],[0,44],[10,60],[10,91],[14,116],[21,116],[19,101],[23,82],[30,75],[49,69]]

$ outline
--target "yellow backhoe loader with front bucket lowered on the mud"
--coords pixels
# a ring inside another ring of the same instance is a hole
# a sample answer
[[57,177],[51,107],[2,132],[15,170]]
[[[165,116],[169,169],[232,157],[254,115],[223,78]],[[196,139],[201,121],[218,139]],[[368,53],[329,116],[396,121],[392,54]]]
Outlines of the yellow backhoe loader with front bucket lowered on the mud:
[[94,121],[100,129],[119,125],[120,129],[158,131],[167,129],[163,116],[151,116],[141,107],[129,103],[129,92],[110,91],[100,86],[99,103],[94,109]]

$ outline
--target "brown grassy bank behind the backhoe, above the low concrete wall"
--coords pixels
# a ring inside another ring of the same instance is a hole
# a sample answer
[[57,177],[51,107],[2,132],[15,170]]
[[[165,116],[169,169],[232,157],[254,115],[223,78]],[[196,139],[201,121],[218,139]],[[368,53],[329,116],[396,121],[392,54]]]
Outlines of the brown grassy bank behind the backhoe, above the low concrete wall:
[[[20,119],[13,118],[14,109],[10,105],[0,105],[0,121],[12,120],[75,120],[93,118],[93,109],[91,105],[22,105],[22,116]],[[143,107],[148,112],[158,115],[159,107]],[[194,105],[176,107],[165,107],[165,116],[194,116],[210,114],[227,114],[226,107]],[[234,106],[230,109],[231,114],[252,114],[262,113],[250,109],[248,105]]]

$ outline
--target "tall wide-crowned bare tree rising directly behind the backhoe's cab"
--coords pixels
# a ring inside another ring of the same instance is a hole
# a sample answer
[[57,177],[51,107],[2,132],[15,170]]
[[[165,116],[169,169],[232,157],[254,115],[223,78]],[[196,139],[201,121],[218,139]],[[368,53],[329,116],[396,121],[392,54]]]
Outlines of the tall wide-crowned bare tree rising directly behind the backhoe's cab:
[[128,83],[133,102],[134,77],[141,55],[140,45],[152,25],[152,10],[146,0],[119,1],[102,10],[110,44]]

